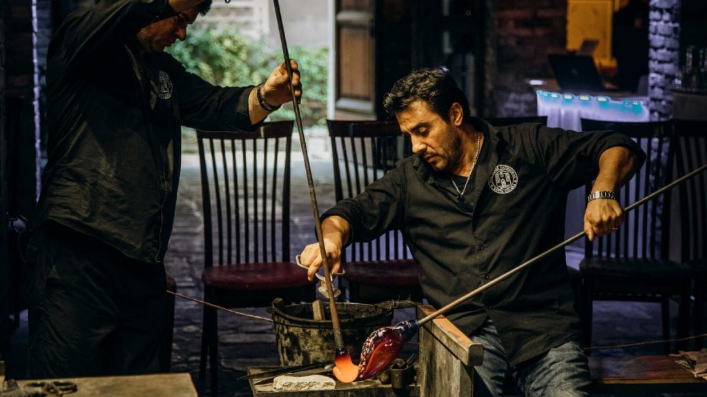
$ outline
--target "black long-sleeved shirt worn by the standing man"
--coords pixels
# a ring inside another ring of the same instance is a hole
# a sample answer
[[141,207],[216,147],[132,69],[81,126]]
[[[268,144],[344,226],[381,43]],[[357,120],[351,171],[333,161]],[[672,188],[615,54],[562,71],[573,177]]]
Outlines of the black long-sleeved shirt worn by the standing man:
[[183,125],[247,129],[252,88],[203,81],[136,35],[165,0],[103,0],[66,18],[49,46],[48,162],[35,225],[51,219],[160,262],[172,230]]

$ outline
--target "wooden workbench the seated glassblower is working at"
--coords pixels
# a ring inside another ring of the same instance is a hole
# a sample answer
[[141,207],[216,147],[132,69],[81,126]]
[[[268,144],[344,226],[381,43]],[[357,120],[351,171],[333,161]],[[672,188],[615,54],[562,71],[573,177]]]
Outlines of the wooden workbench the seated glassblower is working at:
[[[433,307],[421,305],[417,309],[417,318],[420,319],[432,312],[434,312]],[[407,395],[473,397],[475,395],[474,366],[481,365],[483,357],[484,348],[481,345],[473,343],[451,321],[444,316],[439,316],[420,328],[417,378],[416,382],[409,386]],[[669,356],[591,356],[589,366],[592,374],[592,393],[638,395],[704,393],[707,396],[707,381],[696,379],[691,372],[678,365]],[[381,385],[375,379],[348,385],[337,383],[337,390],[334,391],[283,393],[271,388],[260,389],[253,385],[252,390],[258,397],[395,395],[395,391],[391,390],[390,386]],[[476,395],[479,394],[484,393],[477,392]]]

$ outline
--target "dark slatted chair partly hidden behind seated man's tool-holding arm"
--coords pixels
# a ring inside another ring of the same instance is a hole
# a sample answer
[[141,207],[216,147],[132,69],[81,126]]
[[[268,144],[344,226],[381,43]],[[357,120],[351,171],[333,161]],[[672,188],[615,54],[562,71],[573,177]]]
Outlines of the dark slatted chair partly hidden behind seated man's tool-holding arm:
[[[338,201],[355,197],[368,184],[412,153],[397,122],[327,120]],[[351,244],[344,253],[344,282],[351,302],[422,299],[419,268],[398,230],[372,242]]]

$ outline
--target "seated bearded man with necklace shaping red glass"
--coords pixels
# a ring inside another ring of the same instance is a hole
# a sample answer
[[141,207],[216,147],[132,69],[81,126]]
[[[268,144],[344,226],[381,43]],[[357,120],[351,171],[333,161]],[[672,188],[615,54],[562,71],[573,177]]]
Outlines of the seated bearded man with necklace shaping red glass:
[[[469,115],[446,69],[414,71],[384,100],[414,155],[355,198],[322,215],[328,263],[351,241],[399,229],[435,307],[478,288],[564,236],[568,191],[596,179],[584,215],[589,239],[621,225],[614,199],[644,154],[626,136],[520,124],[496,129]],[[310,244],[310,278],[322,263]],[[586,396],[587,358],[578,343],[564,252],[515,273],[460,304],[448,318],[484,345],[477,372],[494,396],[506,374],[526,396]]]

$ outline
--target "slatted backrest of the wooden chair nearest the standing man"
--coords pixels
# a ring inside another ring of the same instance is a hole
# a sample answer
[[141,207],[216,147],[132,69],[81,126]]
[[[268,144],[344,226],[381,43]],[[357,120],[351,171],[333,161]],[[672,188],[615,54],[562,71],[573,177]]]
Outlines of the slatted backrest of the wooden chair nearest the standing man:
[[292,127],[269,122],[257,134],[197,131],[205,266],[291,261]]

